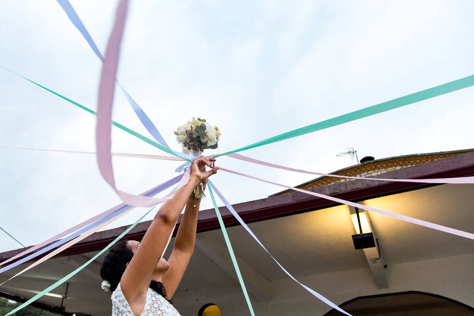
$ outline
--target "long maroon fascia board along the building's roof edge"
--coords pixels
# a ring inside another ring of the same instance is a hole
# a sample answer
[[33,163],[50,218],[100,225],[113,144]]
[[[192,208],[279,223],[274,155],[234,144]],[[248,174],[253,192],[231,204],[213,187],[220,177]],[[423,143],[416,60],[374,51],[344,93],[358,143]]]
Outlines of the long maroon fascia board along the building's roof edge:
[[[406,167],[383,174],[387,179],[430,179],[430,178],[455,178],[474,175],[474,152],[458,155],[455,157],[436,160],[429,163]],[[413,182],[387,182],[352,180],[335,183],[328,186],[312,188],[309,191],[338,197],[349,201],[361,201],[369,198],[383,197],[396,193],[402,193],[422,188],[435,186],[437,184],[413,183]],[[225,188],[223,194],[226,194]],[[233,205],[245,223],[264,221],[272,218],[284,217],[317,209],[339,205],[339,203],[310,196],[300,192],[293,192],[274,197],[266,197],[244,203]],[[219,207],[226,227],[238,225],[237,220],[223,206]],[[174,234],[176,234],[181,222],[182,215],[178,220]],[[138,224],[130,233],[128,239],[140,240],[148,229],[151,221]],[[107,231],[97,232],[64,250],[58,256],[67,256],[104,248],[110,241],[120,235],[128,226],[123,226]],[[219,229],[219,222],[214,209],[202,210],[197,219],[197,232],[205,232]],[[11,250],[0,253],[0,260],[6,260],[24,249]]]

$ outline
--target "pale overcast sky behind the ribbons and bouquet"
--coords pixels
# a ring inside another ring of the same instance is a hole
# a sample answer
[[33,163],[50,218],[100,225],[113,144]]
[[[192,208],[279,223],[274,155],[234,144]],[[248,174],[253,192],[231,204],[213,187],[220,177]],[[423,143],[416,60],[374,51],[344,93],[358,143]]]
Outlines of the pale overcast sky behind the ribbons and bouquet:
[[[101,62],[59,4],[0,4],[0,65],[95,109]],[[104,52],[117,1],[72,4]],[[196,116],[220,127],[219,149],[205,154],[220,153],[472,75],[473,11],[469,0],[131,1],[118,78],[174,149],[173,130]],[[336,157],[349,147],[359,158],[473,148],[473,100],[468,88],[242,154],[332,172],[356,163]],[[0,146],[95,151],[94,116],[1,69],[0,107]],[[150,136],[119,91],[113,117]],[[115,127],[113,151],[163,154]],[[120,203],[94,156],[0,155],[0,226],[24,244]],[[113,162],[118,188],[135,194],[174,176],[179,164]],[[232,158],[218,165],[287,185],[314,178]],[[224,172],[213,179],[232,203],[280,191]],[[0,232],[0,251],[15,248]]]

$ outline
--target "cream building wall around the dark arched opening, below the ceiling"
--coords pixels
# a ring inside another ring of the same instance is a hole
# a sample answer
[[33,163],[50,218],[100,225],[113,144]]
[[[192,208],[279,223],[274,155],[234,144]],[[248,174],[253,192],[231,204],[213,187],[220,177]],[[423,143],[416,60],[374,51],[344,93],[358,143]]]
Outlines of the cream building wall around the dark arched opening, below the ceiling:
[[[405,291],[432,293],[474,307],[474,254],[408,262],[387,267],[388,289],[378,289],[369,269],[300,277],[299,281],[342,304],[360,296]],[[282,276],[283,277],[283,276]],[[288,278],[272,281],[273,298],[270,301],[251,301],[258,316],[322,316],[331,310],[301,286]],[[197,315],[204,303],[216,303],[223,316],[249,315],[237,284],[222,289],[202,289],[196,293],[178,293],[175,306],[182,315]],[[434,314],[435,315],[435,314]],[[446,315],[446,314],[445,314]]]

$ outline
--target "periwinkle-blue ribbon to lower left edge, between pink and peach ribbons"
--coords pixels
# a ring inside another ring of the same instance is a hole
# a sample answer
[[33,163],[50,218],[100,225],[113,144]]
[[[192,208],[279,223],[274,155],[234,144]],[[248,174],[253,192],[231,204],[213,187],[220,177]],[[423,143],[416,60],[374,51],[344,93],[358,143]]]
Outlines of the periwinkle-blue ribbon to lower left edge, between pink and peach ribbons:
[[[189,175],[189,173],[187,173],[187,174]],[[182,187],[183,185],[185,185],[185,184],[188,182],[188,180],[186,180],[186,178],[189,178],[189,177],[185,177],[184,175],[179,175],[179,176],[177,176],[177,177],[174,177],[173,179],[171,179],[171,180],[169,180],[169,181],[167,181],[167,182],[165,182],[165,183],[159,185],[158,187],[155,187],[155,188],[153,188],[153,189],[147,191],[143,196],[154,196],[154,195],[158,194],[159,192],[161,192],[161,191],[163,191],[163,190],[166,190],[167,188],[171,187],[173,184],[176,184],[180,178],[181,178],[181,181],[179,182],[179,185],[178,185],[178,186],[179,186],[179,187]],[[185,181],[183,181],[183,179],[185,179]],[[171,193],[167,194],[166,196],[161,197],[161,198],[159,198],[159,199],[160,199],[162,202],[164,202],[164,201],[170,199],[171,197],[173,197],[174,194],[175,194],[175,191],[173,191],[173,192],[171,192]],[[25,263],[25,262],[27,262],[27,261],[29,261],[29,260],[31,260],[31,259],[34,259],[34,258],[38,257],[39,255],[41,255],[41,254],[43,254],[43,253],[45,253],[45,252],[47,252],[47,251],[49,251],[49,250],[52,250],[52,249],[54,249],[54,248],[56,248],[56,247],[58,247],[58,246],[60,246],[60,245],[62,245],[62,244],[64,244],[64,243],[68,242],[69,240],[71,240],[71,239],[73,239],[73,238],[75,238],[75,237],[78,237],[78,236],[80,236],[81,234],[86,233],[86,232],[88,232],[88,231],[90,231],[90,230],[98,231],[98,230],[99,230],[99,228],[97,228],[98,225],[100,225],[100,224],[102,224],[102,223],[108,221],[109,219],[115,218],[118,214],[121,214],[121,213],[123,213],[123,212],[125,212],[125,211],[128,211],[128,210],[130,210],[131,208],[132,208],[132,206],[126,205],[126,204],[123,204],[123,203],[120,204],[120,205],[117,205],[117,206],[111,208],[110,210],[108,210],[108,211],[102,213],[102,214],[107,214],[107,215],[104,215],[103,217],[101,217],[101,218],[100,218],[99,220],[97,220],[96,222],[94,222],[94,223],[92,223],[92,224],[89,224],[88,226],[86,226],[86,227],[80,229],[79,231],[75,232],[74,234],[71,234],[71,235],[69,235],[68,237],[65,237],[65,238],[63,238],[63,239],[61,239],[61,240],[58,240],[58,241],[56,241],[56,242],[54,242],[54,243],[52,243],[52,244],[50,244],[50,245],[48,245],[48,246],[46,246],[46,247],[40,249],[39,251],[37,251],[37,252],[35,252],[35,253],[33,253],[33,254],[29,255],[29,256],[26,256],[26,257],[24,257],[24,258],[21,258],[21,259],[19,259],[18,261],[15,261],[14,263],[12,263],[12,264],[10,264],[10,265],[1,268],[1,269],[0,269],[0,273],[3,273],[3,272],[5,272],[5,271],[8,271],[8,270],[10,270],[10,269],[12,269],[12,268],[14,268],[14,267],[16,267],[16,266],[22,264],[22,263]],[[102,215],[102,214],[100,214],[100,215]],[[99,216],[99,215],[97,215],[97,216]],[[95,216],[95,217],[97,217],[97,216]],[[88,221],[86,221],[86,222],[89,222],[89,221],[90,221],[90,219],[89,219]],[[83,223],[86,223],[86,222],[83,222]],[[77,226],[79,226],[79,225],[77,225]],[[77,226],[75,226],[75,227],[77,227]],[[84,226],[85,226],[85,225],[84,225]],[[68,231],[70,231],[70,230],[71,230],[71,229],[69,229]],[[68,232],[68,231],[66,231],[66,232]],[[63,233],[60,234],[60,235],[63,235],[64,233],[65,233],[65,232],[63,232]],[[57,236],[60,236],[60,235],[56,235],[55,237],[57,238]],[[42,242],[40,245],[37,245],[37,246],[35,246],[35,247],[33,247],[33,248],[38,249],[38,248],[40,248],[42,245],[48,243],[49,240],[51,240],[51,239],[53,239],[53,238],[55,238],[55,237],[52,237],[52,238],[50,238],[50,239],[48,239],[48,240]],[[53,240],[54,240],[54,239],[53,239]],[[28,250],[29,250],[29,251],[28,251]],[[24,254],[26,254],[26,253],[28,253],[28,252],[33,251],[33,250],[31,250],[31,248],[28,249],[28,250],[23,251],[22,253],[19,253],[18,255],[14,256],[13,258],[10,258],[10,259],[8,259],[8,260],[2,262],[2,264],[6,263],[7,261],[11,261],[11,260],[14,260],[14,259],[16,259],[16,258],[19,258],[19,257],[21,257],[22,255],[24,255]],[[43,257],[43,258],[44,258],[44,257]],[[45,261],[45,260],[42,260],[43,258],[40,259],[41,262]]]

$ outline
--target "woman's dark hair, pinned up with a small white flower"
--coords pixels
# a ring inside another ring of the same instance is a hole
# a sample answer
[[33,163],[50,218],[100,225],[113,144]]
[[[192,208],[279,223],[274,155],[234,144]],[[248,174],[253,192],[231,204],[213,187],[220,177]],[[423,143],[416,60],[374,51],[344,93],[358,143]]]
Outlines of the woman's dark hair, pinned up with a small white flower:
[[[128,246],[127,240],[122,240],[110,248],[104,260],[102,260],[100,276],[102,279],[107,280],[107,282],[110,283],[110,289],[112,292],[117,289],[120,278],[127,267],[127,263],[132,260],[132,257],[133,251]],[[171,303],[171,300],[166,296],[166,290],[164,289],[163,283],[152,280],[150,282],[150,288],[155,290]]]

